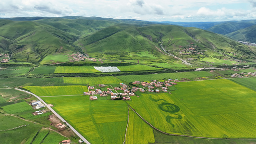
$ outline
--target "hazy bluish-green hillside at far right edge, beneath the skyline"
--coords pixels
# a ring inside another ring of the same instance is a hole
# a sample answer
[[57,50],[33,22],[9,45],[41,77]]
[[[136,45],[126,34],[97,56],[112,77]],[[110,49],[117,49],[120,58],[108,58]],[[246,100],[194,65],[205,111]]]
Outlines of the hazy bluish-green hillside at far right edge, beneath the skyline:
[[256,43],[256,24],[246,27],[244,29],[232,32],[230,34],[227,34],[226,36],[229,36],[239,41]]

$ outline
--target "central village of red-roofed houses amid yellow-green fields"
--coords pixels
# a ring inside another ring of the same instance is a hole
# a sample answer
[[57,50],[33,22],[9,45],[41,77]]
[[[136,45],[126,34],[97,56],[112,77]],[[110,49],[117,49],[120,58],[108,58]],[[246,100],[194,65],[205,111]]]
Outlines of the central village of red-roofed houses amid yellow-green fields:
[[[173,82],[172,82],[173,81]],[[130,83],[133,86],[120,83],[119,85],[105,85],[98,84],[96,86],[88,86],[88,92],[84,95],[89,95],[91,100],[97,100],[100,97],[110,96],[111,100],[131,100],[130,96],[136,96],[135,93],[170,93],[168,87],[176,85],[179,80],[168,79],[167,81],[160,82],[152,80],[152,82],[134,81]],[[139,97],[139,96],[138,96]],[[101,98],[100,98],[101,99]],[[108,98],[107,98],[108,99]]]

